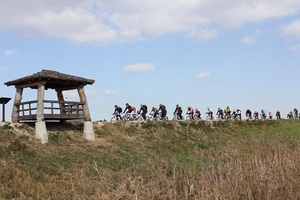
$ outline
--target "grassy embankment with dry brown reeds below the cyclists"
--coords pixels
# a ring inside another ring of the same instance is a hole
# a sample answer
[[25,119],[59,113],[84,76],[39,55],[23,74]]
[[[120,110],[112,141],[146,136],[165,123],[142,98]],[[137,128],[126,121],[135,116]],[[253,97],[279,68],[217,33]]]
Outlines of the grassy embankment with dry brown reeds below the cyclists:
[[0,199],[299,199],[300,120],[0,127]]

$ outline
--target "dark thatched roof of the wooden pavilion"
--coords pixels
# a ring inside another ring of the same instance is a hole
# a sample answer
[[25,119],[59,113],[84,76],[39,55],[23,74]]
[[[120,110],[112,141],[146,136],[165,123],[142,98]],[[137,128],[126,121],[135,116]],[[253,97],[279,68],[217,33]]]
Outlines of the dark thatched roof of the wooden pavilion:
[[37,88],[38,83],[41,81],[46,82],[46,89],[76,89],[80,85],[92,85],[95,82],[95,80],[92,79],[86,79],[79,76],[43,69],[41,72],[37,72],[33,75],[25,76],[13,81],[8,81],[4,84],[7,86],[15,85]]

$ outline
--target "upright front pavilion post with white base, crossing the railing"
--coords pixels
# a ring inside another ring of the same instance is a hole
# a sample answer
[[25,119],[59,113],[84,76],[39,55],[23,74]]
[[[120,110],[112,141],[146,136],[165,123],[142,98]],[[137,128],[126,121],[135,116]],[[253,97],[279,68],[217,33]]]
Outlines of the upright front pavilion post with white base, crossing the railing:
[[38,84],[38,100],[36,111],[36,123],[35,123],[35,137],[41,140],[42,144],[48,142],[48,133],[46,129],[46,122],[44,116],[44,96],[45,96],[45,82]]

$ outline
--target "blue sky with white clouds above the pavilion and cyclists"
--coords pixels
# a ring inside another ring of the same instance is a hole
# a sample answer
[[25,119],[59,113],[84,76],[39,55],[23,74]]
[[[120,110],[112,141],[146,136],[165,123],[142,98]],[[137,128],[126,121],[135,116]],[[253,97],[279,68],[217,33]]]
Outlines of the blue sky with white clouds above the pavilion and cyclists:
[[[127,102],[165,104],[170,118],[176,104],[286,117],[300,109],[299,65],[298,0],[0,0],[0,96],[42,69],[94,79],[93,121]],[[23,101],[36,95],[25,89]]]

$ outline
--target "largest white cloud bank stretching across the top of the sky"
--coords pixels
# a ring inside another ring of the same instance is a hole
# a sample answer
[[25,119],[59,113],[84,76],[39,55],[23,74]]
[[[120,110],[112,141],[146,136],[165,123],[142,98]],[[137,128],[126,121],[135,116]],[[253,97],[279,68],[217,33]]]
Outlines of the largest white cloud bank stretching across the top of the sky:
[[[0,31],[93,44],[134,42],[178,32],[206,40],[224,27],[299,11],[299,0],[10,0],[1,3]],[[212,26],[218,28],[208,28]]]

